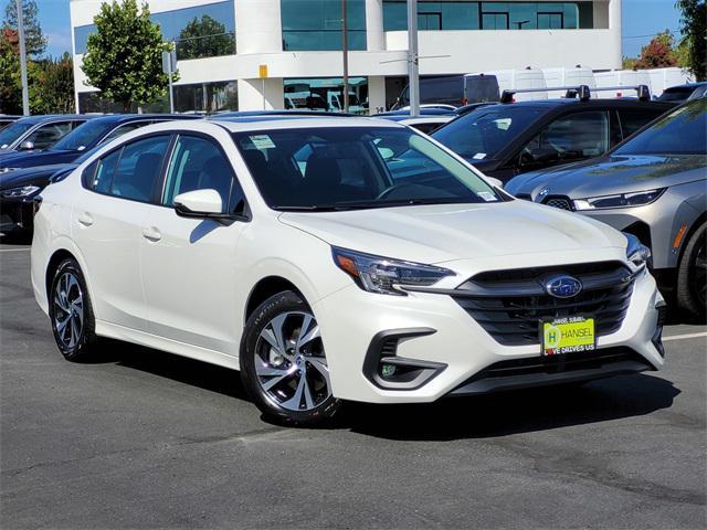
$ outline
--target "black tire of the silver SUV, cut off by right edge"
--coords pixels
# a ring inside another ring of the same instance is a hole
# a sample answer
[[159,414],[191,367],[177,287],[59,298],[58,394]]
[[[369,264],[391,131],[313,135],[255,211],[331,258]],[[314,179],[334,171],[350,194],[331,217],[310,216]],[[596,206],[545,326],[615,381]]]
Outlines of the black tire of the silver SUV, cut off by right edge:
[[707,312],[707,223],[703,223],[685,245],[677,268],[677,305],[699,321]]

